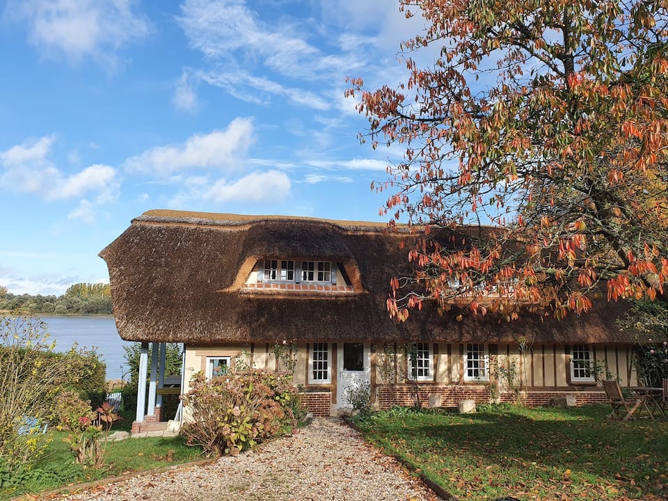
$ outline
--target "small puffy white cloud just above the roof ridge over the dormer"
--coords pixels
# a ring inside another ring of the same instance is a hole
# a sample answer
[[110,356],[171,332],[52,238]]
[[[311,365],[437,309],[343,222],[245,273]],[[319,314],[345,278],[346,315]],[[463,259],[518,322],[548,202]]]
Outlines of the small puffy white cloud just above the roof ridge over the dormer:
[[219,180],[203,197],[214,202],[278,202],[290,193],[290,179],[280,170],[250,173],[229,182]]

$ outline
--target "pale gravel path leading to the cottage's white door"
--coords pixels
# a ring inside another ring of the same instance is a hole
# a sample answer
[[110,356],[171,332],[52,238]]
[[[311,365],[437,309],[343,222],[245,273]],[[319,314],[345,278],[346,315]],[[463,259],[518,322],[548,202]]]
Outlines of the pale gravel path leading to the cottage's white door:
[[436,501],[395,459],[342,422],[315,419],[236,458],[147,474],[71,495],[67,500]]

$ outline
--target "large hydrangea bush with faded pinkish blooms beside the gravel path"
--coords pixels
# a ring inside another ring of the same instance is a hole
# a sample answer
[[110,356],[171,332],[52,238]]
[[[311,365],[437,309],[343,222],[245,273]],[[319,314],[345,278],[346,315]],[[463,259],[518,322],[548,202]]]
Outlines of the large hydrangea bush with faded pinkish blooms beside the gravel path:
[[190,445],[236,456],[292,429],[297,398],[288,374],[252,370],[207,381],[200,372],[184,397],[189,417],[183,431]]

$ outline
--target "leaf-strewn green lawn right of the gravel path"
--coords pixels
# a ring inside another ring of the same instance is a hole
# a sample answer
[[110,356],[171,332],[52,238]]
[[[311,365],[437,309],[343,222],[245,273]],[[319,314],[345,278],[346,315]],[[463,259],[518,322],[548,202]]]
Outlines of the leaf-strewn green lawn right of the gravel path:
[[668,499],[668,422],[607,420],[610,406],[358,417],[365,438],[460,499]]

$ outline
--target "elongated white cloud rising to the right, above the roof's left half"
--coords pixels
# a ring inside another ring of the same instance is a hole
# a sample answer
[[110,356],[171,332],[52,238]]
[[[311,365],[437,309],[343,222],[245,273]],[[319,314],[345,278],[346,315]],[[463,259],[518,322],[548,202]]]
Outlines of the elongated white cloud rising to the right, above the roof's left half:
[[159,177],[188,168],[237,170],[253,143],[253,120],[235,118],[225,130],[195,134],[176,146],[159,146],[130,157],[125,168],[154,173]]

